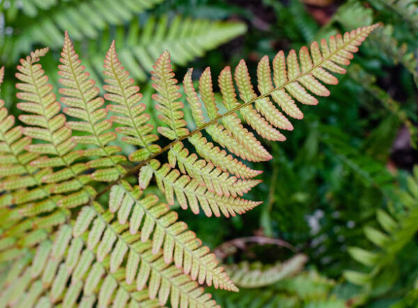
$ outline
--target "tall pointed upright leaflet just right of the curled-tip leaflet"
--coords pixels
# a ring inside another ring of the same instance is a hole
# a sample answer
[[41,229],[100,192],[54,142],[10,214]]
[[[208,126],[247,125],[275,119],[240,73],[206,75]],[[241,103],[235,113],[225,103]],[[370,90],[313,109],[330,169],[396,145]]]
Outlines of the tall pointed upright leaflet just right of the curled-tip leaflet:
[[[77,143],[91,144],[97,149],[85,151],[85,154],[92,154],[99,157],[106,157],[106,160],[100,160],[101,164],[111,164],[111,169],[96,171],[91,176],[95,180],[104,180],[110,182],[124,173],[124,169],[118,166],[118,162],[125,157],[114,153],[121,151],[118,146],[109,146],[109,142],[116,139],[114,132],[106,132],[111,128],[111,120],[104,119],[107,116],[107,110],[102,107],[103,98],[98,96],[99,88],[95,87],[93,79],[88,79],[88,72],[84,72],[84,66],[81,66],[78,54],[75,52],[72,42],[65,32],[63,51],[61,52],[61,65],[59,66],[59,75],[62,77],[59,82],[63,85],[59,92],[63,95],[61,98],[67,108],[63,111],[69,116],[74,116],[82,121],[67,123],[72,130],[85,132],[83,136],[73,137]],[[93,152],[93,153],[92,153]],[[109,161],[109,162],[107,162]],[[95,164],[98,167],[98,164]],[[115,172],[112,172],[115,171]],[[107,176],[101,176],[106,175]],[[99,176],[98,176],[99,175]],[[112,176],[109,176],[112,175]]]

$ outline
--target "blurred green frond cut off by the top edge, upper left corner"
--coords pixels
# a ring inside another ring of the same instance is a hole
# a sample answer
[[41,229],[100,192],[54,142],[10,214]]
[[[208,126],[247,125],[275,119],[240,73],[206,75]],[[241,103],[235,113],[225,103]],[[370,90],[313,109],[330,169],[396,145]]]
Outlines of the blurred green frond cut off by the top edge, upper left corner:
[[[24,3],[29,1],[25,0]],[[20,36],[16,38],[13,36],[6,41],[8,50],[12,49],[12,54],[5,53],[2,56],[7,61],[16,61],[22,52],[29,52],[37,43],[54,49],[61,47],[64,31],[70,32],[77,41],[86,38],[94,40],[109,24],[116,25],[130,21],[137,13],[144,12],[162,1],[164,0],[105,0],[104,2],[94,0],[88,3],[57,1],[58,5],[50,6],[49,10],[39,10],[38,15],[34,12],[29,14],[33,16],[31,22],[28,22],[30,26],[16,29],[20,31]],[[47,0],[36,2],[46,3]]]

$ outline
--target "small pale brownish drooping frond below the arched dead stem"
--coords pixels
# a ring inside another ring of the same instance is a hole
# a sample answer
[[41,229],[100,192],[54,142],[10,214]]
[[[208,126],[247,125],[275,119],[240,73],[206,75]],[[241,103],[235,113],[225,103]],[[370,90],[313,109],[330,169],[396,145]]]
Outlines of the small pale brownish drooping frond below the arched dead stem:
[[260,288],[269,286],[286,277],[300,272],[307,262],[304,254],[297,254],[284,263],[276,263],[263,267],[261,263],[242,262],[240,264],[226,265],[231,280],[242,288]]

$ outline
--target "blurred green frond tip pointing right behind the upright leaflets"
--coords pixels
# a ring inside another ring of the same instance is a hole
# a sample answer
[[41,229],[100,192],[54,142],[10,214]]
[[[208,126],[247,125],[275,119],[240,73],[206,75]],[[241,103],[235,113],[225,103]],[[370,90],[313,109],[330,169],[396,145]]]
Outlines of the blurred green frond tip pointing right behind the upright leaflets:
[[[113,29],[111,29],[113,30]],[[103,33],[103,44],[96,44],[91,40],[88,46],[88,68],[92,72],[102,70],[102,54],[107,50],[105,39],[111,37],[110,31]],[[246,26],[242,22],[191,19],[176,15],[163,15],[156,18],[147,17],[144,22],[132,20],[127,30],[118,26],[116,32],[118,43],[123,46],[118,49],[118,55],[132,77],[139,82],[148,79],[148,72],[153,70],[154,59],[164,50],[169,50],[171,60],[178,66],[186,66],[189,61],[203,56],[205,52],[215,49],[219,45],[245,33]],[[70,33],[72,33],[70,31]],[[122,40],[122,41],[121,41]]]

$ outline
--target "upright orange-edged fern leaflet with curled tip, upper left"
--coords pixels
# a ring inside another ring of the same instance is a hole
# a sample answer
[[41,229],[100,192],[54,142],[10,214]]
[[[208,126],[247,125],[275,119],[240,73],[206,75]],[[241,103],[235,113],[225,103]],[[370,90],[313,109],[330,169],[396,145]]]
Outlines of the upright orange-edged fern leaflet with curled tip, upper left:
[[[86,176],[80,175],[86,170],[83,164],[71,165],[74,160],[81,157],[78,151],[73,151],[75,142],[72,141],[71,130],[65,126],[65,118],[59,114],[61,109],[59,102],[56,102],[55,95],[52,93],[52,86],[47,83],[47,76],[44,75],[43,70],[39,64],[39,57],[43,56],[47,49],[38,49],[31,53],[26,59],[22,60],[22,66],[17,69],[17,78],[22,84],[17,84],[17,88],[24,92],[17,93],[17,97],[25,100],[17,104],[19,109],[33,113],[29,115],[20,116],[20,120],[28,126],[22,129],[22,132],[27,137],[40,137],[38,132],[42,132],[42,140],[47,141],[42,144],[29,144],[25,148],[27,151],[35,154],[43,155],[37,160],[30,162],[34,167],[63,167],[55,174],[45,174],[42,177],[42,182],[51,182],[59,180],[68,180],[75,178],[79,180],[82,185],[88,183]],[[36,125],[36,126],[32,126]],[[49,157],[48,157],[49,156]],[[48,180],[49,179],[49,180]],[[22,185],[33,185],[34,183],[22,182]],[[66,203],[67,206],[78,206],[80,203],[88,201],[91,197],[91,190],[93,188],[84,187],[81,192],[70,194],[58,201],[59,206]],[[74,198],[77,194],[77,198]]]

